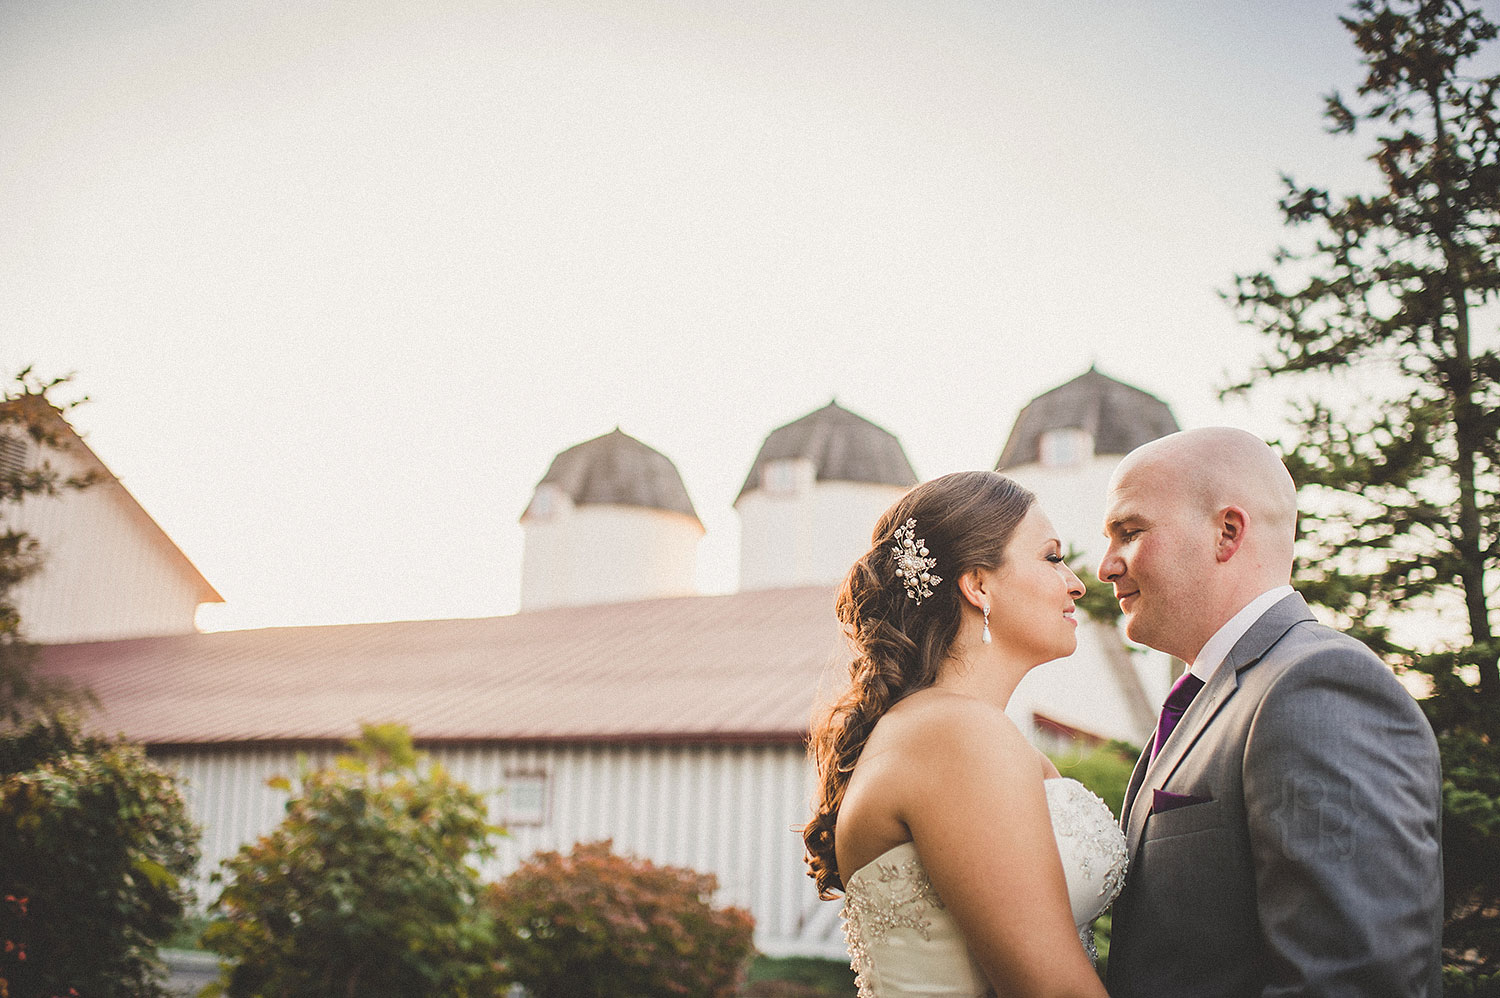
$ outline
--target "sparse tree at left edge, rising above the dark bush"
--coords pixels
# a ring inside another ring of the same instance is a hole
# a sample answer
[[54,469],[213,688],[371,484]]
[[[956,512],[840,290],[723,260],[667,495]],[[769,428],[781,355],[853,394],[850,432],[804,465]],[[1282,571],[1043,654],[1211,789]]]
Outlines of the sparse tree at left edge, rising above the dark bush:
[[0,462],[0,726],[22,725],[78,702],[81,695],[69,686],[36,674],[34,648],[27,644],[21,614],[15,606],[15,587],[42,567],[40,545],[26,531],[6,524],[6,509],[28,497],[57,495],[93,483],[92,476],[66,476],[48,459],[63,449],[57,414],[87,399],[56,405],[48,392],[69,378],[44,381],[27,368],[15,375],[0,398],[0,443],[30,441],[42,461],[27,467]]

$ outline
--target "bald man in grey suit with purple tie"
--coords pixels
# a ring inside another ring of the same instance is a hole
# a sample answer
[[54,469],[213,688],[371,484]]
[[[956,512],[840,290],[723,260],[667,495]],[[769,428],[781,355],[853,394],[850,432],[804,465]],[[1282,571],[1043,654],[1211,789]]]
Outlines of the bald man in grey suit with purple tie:
[[1238,429],[1162,437],[1104,531],[1125,633],[1190,666],[1125,795],[1110,993],[1438,998],[1437,743],[1292,590],[1286,467]]

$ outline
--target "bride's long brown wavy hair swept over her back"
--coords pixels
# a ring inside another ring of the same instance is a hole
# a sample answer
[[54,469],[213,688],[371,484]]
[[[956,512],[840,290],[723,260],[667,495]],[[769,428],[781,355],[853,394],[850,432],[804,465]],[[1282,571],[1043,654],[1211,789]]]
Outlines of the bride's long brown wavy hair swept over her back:
[[[876,722],[891,707],[932,686],[963,618],[958,578],[998,569],[1016,525],[1036,497],[993,471],[958,471],[924,482],[885,510],[870,551],[854,563],[838,590],[836,612],[854,648],[849,689],[812,726],[807,752],[818,767],[813,819],[802,827],[808,876],[828,900],[843,890],[834,831],[849,774]],[[921,605],[896,576],[896,531],[916,521],[942,582]]]

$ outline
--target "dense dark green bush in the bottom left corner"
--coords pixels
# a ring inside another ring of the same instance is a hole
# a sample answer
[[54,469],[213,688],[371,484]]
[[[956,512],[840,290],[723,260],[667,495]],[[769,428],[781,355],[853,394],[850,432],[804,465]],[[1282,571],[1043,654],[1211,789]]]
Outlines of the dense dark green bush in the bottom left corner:
[[198,861],[172,777],[70,720],[0,732],[0,995],[166,995]]

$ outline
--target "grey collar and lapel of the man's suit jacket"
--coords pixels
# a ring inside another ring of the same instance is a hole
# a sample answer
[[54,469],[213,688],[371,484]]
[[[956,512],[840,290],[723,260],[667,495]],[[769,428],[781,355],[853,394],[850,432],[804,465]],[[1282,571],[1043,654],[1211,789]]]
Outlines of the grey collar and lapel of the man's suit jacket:
[[1308,605],[1296,593],[1262,614],[1250,626],[1250,630],[1234,642],[1228,654],[1224,656],[1224,662],[1214,672],[1214,678],[1192,698],[1188,710],[1182,714],[1182,720],[1178,722],[1167,743],[1161,746],[1161,752],[1149,764],[1146,758],[1150,752],[1150,744],[1146,744],[1146,752],[1142,753],[1140,761],[1136,764],[1136,771],[1131,774],[1132,792],[1126,794],[1126,806],[1124,809],[1125,836],[1131,855],[1136,854],[1136,848],[1140,845],[1140,836],[1146,828],[1146,816],[1150,813],[1150,797],[1146,797],[1138,807],[1136,801],[1148,789],[1160,789],[1172,779],[1172,774],[1209,726],[1209,722],[1214,720],[1220,710],[1224,708],[1224,704],[1239,689],[1240,672],[1256,665],[1274,644],[1281,641],[1281,636],[1293,624],[1304,620],[1314,620],[1314,617],[1308,612]]

